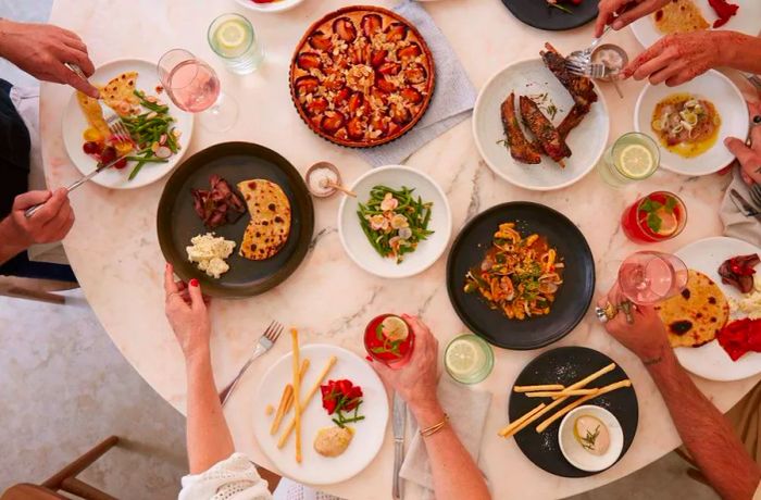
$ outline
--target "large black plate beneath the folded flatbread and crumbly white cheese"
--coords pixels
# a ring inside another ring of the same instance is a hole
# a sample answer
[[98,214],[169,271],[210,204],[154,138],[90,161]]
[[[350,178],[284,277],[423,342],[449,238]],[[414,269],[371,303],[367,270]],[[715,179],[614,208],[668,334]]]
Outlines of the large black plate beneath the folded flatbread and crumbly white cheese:
[[[248,214],[235,224],[214,229],[217,236],[236,242],[227,259],[230,268],[220,279],[199,271],[188,261],[185,250],[190,238],[209,232],[194,210],[190,189],[209,189],[211,174],[227,179],[233,188],[241,180],[272,180],[283,188],[291,209],[288,241],[277,254],[263,261],[238,255],[250,220]],[[250,142],[224,142],[188,158],[166,182],[157,217],[159,243],[166,261],[174,265],[180,278],[198,278],[203,292],[212,297],[250,297],[280,284],[307,255],[314,230],[314,208],[301,175],[275,151]]]

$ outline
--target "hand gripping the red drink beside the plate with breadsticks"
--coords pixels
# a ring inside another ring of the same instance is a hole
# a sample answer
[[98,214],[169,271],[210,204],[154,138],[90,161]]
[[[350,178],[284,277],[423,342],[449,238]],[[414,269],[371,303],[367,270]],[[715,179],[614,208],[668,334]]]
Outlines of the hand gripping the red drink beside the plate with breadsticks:
[[414,413],[416,409],[438,404],[438,340],[417,317],[409,314],[402,314],[402,317],[412,327],[415,336],[410,361],[401,368],[391,368],[377,361],[372,365],[380,378],[407,401]]

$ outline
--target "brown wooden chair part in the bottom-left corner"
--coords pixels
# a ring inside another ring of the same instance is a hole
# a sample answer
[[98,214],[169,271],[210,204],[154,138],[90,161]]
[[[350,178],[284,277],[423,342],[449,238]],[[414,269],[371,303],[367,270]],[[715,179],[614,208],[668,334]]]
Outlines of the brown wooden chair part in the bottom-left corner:
[[111,436],[53,474],[41,485],[23,483],[11,486],[2,493],[0,500],[68,500],[68,497],[59,495],[58,491],[66,491],[85,500],[117,500],[76,477],[117,442],[118,437]]

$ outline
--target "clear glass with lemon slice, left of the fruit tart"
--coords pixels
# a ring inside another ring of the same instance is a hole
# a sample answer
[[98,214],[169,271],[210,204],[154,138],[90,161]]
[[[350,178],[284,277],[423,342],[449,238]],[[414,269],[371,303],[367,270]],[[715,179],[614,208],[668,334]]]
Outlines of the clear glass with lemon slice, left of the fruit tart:
[[207,38],[211,50],[238,75],[253,73],[264,61],[264,47],[242,15],[222,14],[209,26]]

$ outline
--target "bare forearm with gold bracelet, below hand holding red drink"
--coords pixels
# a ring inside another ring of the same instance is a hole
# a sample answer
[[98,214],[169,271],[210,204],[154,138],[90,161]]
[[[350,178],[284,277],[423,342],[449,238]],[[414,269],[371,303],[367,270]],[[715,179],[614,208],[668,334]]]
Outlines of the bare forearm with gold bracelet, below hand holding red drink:
[[[436,425],[444,418],[438,403],[412,409],[421,429]],[[451,425],[446,425],[433,436],[424,437],[428,452],[434,491],[437,500],[490,499],[486,480]]]

